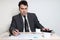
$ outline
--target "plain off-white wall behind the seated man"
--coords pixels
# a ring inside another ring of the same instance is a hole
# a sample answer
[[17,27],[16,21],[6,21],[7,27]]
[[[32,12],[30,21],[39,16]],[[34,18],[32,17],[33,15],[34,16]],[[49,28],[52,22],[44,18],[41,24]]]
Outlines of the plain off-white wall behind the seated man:
[[[0,34],[8,30],[13,15],[19,13],[20,0],[0,0]],[[40,23],[60,35],[60,0],[27,0],[28,11],[36,13]]]

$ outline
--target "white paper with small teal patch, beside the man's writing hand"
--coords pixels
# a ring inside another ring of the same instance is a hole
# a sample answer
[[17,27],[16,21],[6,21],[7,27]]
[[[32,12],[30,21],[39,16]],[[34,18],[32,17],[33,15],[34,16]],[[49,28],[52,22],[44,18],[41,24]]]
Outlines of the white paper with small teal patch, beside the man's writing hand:
[[42,38],[41,34],[20,34],[19,36],[11,36],[10,38],[15,39],[40,39]]

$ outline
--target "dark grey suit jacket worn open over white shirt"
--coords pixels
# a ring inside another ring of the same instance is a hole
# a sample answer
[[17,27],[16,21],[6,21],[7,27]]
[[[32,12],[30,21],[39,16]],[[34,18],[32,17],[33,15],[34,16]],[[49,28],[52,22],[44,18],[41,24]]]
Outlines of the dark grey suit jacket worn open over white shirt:
[[[27,17],[32,32],[35,32],[36,28],[43,28],[34,13],[27,13]],[[19,29],[20,32],[23,32],[23,19],[20,13],[18,15],[13,16],[10,27],[16,27]]]

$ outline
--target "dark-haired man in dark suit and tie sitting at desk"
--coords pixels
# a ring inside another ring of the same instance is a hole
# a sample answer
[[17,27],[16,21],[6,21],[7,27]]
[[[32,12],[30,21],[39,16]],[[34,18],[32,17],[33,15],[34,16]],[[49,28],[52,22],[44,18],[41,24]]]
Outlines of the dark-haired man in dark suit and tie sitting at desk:
[[20,32],[35,32],[36,28],[48,30],[39,23],[34,13],[28,12],[27,1],[20,1],[18,7],[20,13],[13,16],[10,28],[16,27]]

